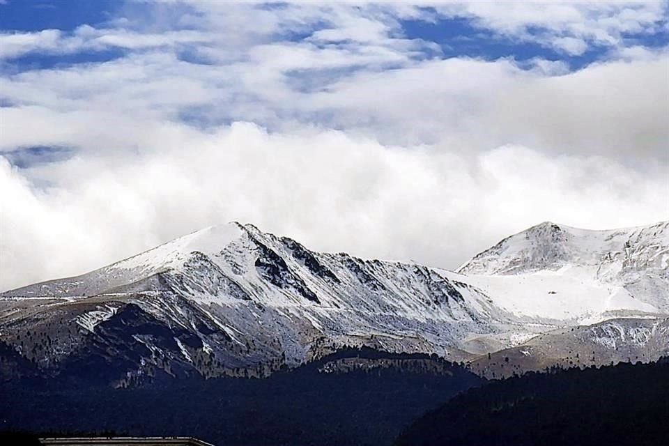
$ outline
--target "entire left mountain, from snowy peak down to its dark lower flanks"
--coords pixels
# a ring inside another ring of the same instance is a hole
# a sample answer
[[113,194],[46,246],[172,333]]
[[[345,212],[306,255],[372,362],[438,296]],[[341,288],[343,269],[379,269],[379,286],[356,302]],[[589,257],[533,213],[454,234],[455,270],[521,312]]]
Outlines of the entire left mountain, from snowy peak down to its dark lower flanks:
[[[514,323],[486,295],[432,268],[312,252],[237,223],[1,299],[0,340],[29,359],[45,355],[48,368],[123,345],[123,356],[141,357],[123,370],[131,376],[177,366],[265,374],[363,344],[463,360],[463,339]],[[27,343],[28,330],[40,340]]]

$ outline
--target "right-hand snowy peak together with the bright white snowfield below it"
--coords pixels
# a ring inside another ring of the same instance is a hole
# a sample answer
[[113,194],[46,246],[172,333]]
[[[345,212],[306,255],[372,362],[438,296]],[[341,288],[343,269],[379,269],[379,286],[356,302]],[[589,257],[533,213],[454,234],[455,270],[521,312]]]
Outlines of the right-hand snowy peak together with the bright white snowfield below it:
[[518,315],[601,321],[611,312],[669,312],[669,222],[587,231],[546,222],[459,268]]

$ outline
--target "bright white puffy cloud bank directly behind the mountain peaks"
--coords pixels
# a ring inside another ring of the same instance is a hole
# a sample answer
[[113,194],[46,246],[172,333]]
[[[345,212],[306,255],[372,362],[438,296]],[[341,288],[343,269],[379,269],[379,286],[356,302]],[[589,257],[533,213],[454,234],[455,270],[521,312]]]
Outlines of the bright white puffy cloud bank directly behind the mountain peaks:
[[468,156],[244,123],[151,139],[160,150],[30,171],[0,158],[0,288],[84,272],[229,220],[317,249],[453,268],[539,220],[599,228],[666,215],[666,167],[640,174],[520,146]]

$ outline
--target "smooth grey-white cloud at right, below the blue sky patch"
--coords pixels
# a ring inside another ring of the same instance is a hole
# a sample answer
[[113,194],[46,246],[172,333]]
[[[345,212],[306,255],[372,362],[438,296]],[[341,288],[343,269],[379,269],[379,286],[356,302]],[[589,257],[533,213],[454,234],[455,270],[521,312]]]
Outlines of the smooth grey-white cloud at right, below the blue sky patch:
[[514,143],[652,160],[669,140],[668,75],[666,54],[557,76],[509,61],[447,59],[354,75],[305,101],[383,141],[463,139],[477,150]]

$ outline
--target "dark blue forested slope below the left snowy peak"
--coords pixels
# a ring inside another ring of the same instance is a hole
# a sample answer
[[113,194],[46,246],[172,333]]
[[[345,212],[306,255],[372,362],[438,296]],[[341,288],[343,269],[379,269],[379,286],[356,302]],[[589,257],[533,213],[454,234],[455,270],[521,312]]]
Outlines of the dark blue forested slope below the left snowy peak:
[[426,410],[485,380],[436,356],[351,349],[269,378],[154,380],[114,389],[0,384],[3,429],[197,436],[215,445],[389,445]]

